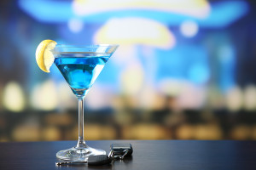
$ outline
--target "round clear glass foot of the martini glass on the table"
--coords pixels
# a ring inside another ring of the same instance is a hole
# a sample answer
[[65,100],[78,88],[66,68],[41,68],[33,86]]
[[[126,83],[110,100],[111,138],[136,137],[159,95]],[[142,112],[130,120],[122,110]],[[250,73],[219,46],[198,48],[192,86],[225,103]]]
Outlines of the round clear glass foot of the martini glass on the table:
[[86,147],[73,147],[67,150],[60,150],[56,153],[58,159],[66,161],[84,161],[88,156],[105,155],[105,150],[98,150]]

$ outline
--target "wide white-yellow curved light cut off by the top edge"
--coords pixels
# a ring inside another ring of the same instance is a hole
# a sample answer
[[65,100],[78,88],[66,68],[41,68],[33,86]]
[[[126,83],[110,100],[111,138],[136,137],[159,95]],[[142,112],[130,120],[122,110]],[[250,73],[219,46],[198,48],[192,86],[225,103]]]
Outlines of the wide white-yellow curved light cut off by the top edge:
[[204,19],[211,11],[207,0],[75,0],[73,11],[78,15],[90,15],[124,9],[142,9],[185,14]]

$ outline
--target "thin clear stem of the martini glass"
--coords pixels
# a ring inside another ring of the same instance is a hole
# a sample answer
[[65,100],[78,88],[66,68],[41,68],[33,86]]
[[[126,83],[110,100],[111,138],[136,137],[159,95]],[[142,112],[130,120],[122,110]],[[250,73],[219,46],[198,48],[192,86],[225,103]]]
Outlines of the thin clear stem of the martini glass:
[[84,97],[79,97],[79,141],[77,148],[86,147],[84,141]]

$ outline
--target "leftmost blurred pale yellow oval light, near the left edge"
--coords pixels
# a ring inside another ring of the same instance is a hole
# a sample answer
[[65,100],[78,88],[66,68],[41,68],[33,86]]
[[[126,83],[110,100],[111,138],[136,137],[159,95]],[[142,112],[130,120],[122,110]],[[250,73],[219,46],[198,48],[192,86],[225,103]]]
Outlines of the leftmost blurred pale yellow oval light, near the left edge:
[[9,111],[23,111],[25,94],[17,82],[9,82],[3,89],[3,106]]

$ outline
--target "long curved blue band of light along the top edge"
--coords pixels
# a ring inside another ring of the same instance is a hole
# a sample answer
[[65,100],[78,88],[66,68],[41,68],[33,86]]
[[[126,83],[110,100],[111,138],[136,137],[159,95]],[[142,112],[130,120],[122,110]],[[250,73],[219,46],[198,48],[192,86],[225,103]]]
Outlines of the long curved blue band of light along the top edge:
[[75,17],[90,23],[104,23],[113,17],[143,17],[160,21],[168,26],[179,26],[184,20],[194,20],[201,27],[229,26],[247,14],[249,9],[247,2],[244,1],[211,3],[212,10],[210,15],[206,19],[198,19],[183,14],[146,9],[116,10],[77,16],[73,13],[72,1],[20,0],[19,5],[21,9],[36,20],[49,23],[67,22]]

